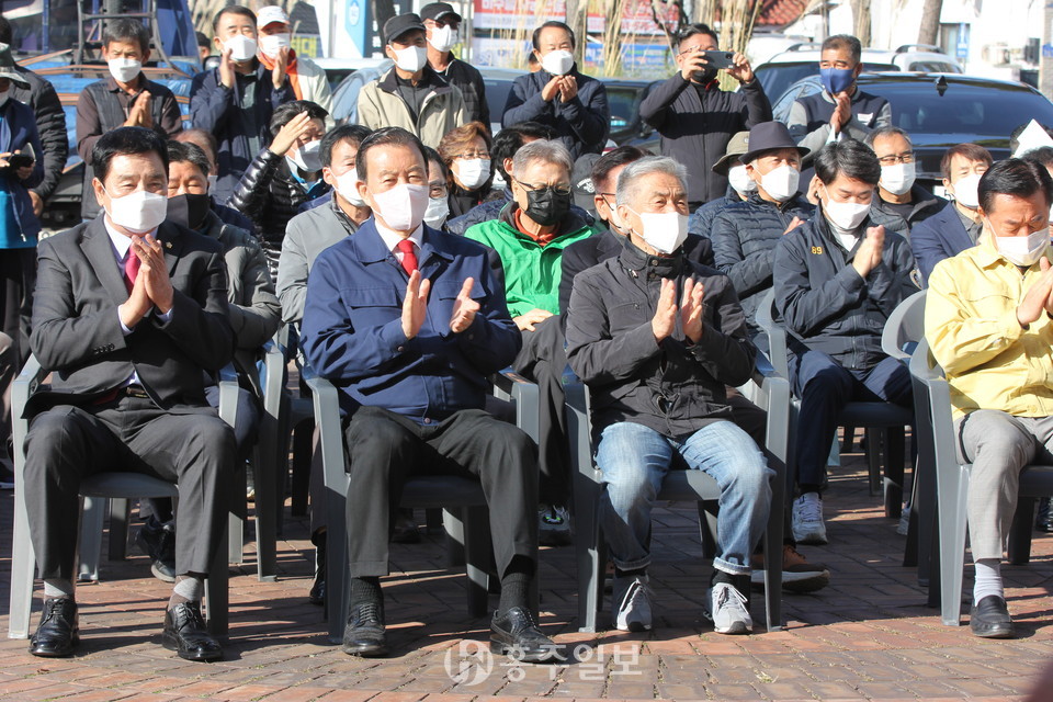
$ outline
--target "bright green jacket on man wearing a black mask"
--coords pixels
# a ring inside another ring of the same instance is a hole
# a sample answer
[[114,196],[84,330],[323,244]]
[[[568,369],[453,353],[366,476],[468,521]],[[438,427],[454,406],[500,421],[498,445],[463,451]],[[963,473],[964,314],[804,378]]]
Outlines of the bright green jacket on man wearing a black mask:
[[497,219],[469,227],[464,236],[490,247],[500,257],[503,271],[498,275],[505,283],[509,315],[518,317],[531,309],[558,315],[563,250],[591,236],[592,228],[569,212],[555,238],[543,247],[516,228],[518,208],[514,201],[510,202]]

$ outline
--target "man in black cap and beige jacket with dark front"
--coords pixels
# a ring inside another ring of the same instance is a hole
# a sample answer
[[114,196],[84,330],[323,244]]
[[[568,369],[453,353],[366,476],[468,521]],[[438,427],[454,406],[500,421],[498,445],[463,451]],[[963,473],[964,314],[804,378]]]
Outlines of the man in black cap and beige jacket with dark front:
[[467,123],[461,89],[428,65],[424,23],[414,13],[384,23],[384,52],[395,61],[386,73],[362,87],[359,124],[371,129],[403,127],[426,146]]

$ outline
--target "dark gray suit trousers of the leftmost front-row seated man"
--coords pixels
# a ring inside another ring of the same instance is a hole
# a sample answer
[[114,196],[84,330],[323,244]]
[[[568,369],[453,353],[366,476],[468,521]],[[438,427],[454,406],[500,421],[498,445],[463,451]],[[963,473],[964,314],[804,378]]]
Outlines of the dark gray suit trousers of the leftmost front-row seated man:
[[135,397],[41,412],[25,439],[24,474],[41,577],[72,579],[80,482],[110,471],[179,485],[176,573],[207,574],[227,526],[224,490],[234,465],[234,432],[212,412],[174,415]]

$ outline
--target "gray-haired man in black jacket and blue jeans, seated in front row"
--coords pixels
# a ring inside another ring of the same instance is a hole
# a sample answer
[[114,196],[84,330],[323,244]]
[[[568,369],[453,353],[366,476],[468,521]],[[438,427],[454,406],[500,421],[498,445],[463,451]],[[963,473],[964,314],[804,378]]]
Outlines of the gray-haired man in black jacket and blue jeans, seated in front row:
[[725,385],[749,380],[756,349],[727,276],[683,256],[684,181],[667,157],[639,159],[619,176],[616,214],[629,239],[616,258],[575,278],[567,356],[591,392],[614,625],[652,627],[650,511],[666,473],[687,467],[722,489],[703,614],[718,633],[746,634],[750,554],[768,521],[771,471],[732,421]]

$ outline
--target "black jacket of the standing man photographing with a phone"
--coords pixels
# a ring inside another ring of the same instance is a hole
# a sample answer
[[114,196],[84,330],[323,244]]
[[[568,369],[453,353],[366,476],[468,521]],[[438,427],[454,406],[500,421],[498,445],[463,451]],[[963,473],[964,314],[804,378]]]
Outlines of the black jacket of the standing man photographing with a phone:
[[639,105],[639,116],[661,135],[661,154],[688,169],[688,200],[709,202],[727,190],[727,177],[713,172],[738,132],[771,121],[771,104],[759,80],[738,92],[712,89],[699,95],[680,73],[655,87]]

